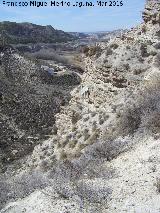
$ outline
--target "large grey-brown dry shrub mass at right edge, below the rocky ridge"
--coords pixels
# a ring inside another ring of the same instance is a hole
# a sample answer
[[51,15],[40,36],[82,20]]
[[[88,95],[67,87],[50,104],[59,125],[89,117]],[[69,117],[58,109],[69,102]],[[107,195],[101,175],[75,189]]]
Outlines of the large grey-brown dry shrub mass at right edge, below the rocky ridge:
[[[152,82],[154,85],[154,83]],[[139,127],[152,133],[160,132],[160,87],[144,88],[117,113],[118,135],[133,134]]]

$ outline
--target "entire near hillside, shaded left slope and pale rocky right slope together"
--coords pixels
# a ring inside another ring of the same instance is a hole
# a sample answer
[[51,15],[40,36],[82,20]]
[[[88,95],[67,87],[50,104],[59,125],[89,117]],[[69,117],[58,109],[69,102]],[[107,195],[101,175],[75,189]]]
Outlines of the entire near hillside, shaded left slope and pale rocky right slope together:
[[159,0],[142,16],[81,74],[1,50],[1,213],[160,212]]

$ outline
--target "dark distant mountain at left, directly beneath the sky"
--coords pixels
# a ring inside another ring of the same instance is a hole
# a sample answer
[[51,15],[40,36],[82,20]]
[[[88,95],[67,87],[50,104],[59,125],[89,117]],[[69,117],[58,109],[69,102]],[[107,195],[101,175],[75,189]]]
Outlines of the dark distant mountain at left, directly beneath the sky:
[[76,37],[52,26],[32,23],[0,22],[0,35],[9,43],[55,43],[74,40]]

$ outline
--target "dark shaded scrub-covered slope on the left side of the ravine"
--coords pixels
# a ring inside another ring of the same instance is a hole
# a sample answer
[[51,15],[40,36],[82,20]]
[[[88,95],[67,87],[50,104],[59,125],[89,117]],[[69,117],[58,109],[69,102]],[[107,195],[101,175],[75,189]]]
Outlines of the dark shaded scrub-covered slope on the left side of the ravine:
[[70,91],[80,83],[73,71],[59,68],[52,74],[48,70],[10,46],[1,48],[1,169],[57,131],[54,116],[61,105],[67,105]]

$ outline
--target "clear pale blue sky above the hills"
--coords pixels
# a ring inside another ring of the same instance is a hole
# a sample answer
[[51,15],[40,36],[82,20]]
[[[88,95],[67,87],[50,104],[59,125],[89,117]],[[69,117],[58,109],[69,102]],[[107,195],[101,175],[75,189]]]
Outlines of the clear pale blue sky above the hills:
[[[19,1],[17,0],[17,2]],[[77,0],[70,1],[73,3]],[[84,0],[80,1],[84,2]],[[96,0],[88,1],[97,2]],[[49,4],[50,0],[47,0],[47,2]],[[98,6],[90,8],[50,6],[43,8],[22,8],[4,6],[2,5],[2,0],[0,0],[0,21],[32,22],[41,25],[52,25],[56,29],[68,32],[126,29],[142,22],[141,12],[143,11],[145,0],[123,0],[123,4],[122,7],[103,8]]]

